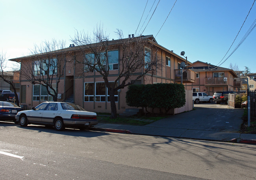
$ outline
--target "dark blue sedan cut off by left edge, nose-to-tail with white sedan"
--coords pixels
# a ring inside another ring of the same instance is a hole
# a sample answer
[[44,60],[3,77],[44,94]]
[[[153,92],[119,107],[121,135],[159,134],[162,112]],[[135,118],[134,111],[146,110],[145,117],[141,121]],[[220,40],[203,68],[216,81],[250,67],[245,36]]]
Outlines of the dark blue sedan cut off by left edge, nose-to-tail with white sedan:
[[17,115],[17,112],[22,110],[23,108],[16,104],[0,101],[0,120],[13,120],[13,122],[17,123],[15,115]]

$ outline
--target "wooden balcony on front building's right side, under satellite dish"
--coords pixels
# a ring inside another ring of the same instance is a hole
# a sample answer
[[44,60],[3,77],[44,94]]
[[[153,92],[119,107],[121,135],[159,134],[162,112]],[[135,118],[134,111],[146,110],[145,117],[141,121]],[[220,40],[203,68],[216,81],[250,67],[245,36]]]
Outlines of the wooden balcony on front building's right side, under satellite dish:
[[181,82],[182,75],[182,83],[195,83],[195,72],[191,69],[174,69],[174,81]]

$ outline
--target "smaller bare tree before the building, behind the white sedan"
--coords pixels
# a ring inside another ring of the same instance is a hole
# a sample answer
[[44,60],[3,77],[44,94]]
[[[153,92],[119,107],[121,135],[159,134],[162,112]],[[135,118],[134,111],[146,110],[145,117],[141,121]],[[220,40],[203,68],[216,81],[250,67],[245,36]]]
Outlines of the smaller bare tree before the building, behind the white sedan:
[[64,75],[66,66],[66,53],[61,51],[64,46],[65,41],[55,39],[35,45],[34,49],[30,50],[33,59],[24,60],[24,67],[20,71],[20,76],[33,85],[43,85],[54,101],[57,101],[60,78]]

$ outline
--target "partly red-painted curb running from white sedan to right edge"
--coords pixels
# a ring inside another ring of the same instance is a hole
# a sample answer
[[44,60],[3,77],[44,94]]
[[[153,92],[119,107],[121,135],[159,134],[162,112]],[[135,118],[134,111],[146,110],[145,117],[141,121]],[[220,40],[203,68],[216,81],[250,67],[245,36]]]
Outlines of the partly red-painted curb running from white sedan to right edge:
[[[90,127],[89,130],[91,130],[91,131],[103,131],[103,132],[109,132],[109,133],[144,135],[144,136],[160,136],[160,135],[148,135],[148,134],[132,133],[131,131],[124,130],[124,129],[107,129],[107,128]],[[176,136],[161,136],[161,137],[170,137],[170,138],[179,138],[179,139],[182,138],[182,139],[192,139],[192,140],[205,140],[205,141],[215,141],[215,142],[232,142],[232,143],[243,143],[243,144],[256,144],[256,140],[240,139],[240,138],[234,138],[234,139],[231,139],[231,140],[212,140],[212,139],[200,139],[200,138],[184,138],[184,137],[176,137]]]

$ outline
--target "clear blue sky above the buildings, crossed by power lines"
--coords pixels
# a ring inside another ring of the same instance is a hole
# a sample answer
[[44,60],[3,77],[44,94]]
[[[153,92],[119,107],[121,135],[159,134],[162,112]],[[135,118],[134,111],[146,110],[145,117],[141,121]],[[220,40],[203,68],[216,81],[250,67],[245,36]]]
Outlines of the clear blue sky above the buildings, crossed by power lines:
[[[93,32],[97,24],[103,24],[110,39],[116,39],[114,31],[122,29],[124,35],[134,34],[139,25],[141,34],[159,0],[149,13],[155,0],[0,0],[0,52],[6,58],[30,54],[34,44],[42,41],[65,40],[78,31]],[[175,0],[160,0],[158,7],[143,35],[158,33]],[[177,0],[171,14],[156,36],[158,44],[185,56],[190,62],[197,60],[217,65],[241,28],[254,0]],[[148,15],[149,14],[149,15]],[[145,21],[146,16],[147,20]],[[235,49],[256,18],[254,3],[245,24],[227,56]],[[145,24],[141,28],[141,25]],[[244,66],[256,73],[256,28],[221,67],[230,63]],[[224,60],[226,57],[224,58]],[[8,67],[11,67],[11,63]]]

